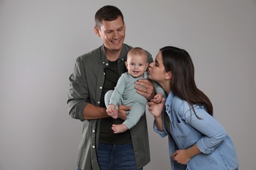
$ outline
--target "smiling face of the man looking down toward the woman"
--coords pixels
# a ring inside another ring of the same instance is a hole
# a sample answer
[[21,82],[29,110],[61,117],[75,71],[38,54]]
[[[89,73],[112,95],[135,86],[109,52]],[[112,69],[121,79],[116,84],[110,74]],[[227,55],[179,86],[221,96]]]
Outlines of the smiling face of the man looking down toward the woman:
[[119,16],[114,21],[103,21],[100,28],[95,27],[95,33],[102,39],[105,50],[119,52],[125,40],[125,24]]

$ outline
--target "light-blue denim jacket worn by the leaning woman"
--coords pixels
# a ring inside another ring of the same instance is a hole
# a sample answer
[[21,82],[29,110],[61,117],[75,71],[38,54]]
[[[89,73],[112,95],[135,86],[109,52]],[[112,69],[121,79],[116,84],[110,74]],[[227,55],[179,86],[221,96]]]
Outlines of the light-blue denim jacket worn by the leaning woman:
[[[181,98],[169,93],[163,113],[169,116],[170,127],[164,126],[159,131],[154,124],[154,131],[161,137],[168,135],[167,129],[171,131],[169,138],[169,156],[173,170],[225,170],[238,169],[238,158],[234,144],[226,134],[223,126],[217,122],[214,116],[207,113],[203,106],[193,105],[197,118],[188,103]],[[190,159],[186,165],[181,165],[171,159],[175,150],[184,150],[197,144],[201,154]]]

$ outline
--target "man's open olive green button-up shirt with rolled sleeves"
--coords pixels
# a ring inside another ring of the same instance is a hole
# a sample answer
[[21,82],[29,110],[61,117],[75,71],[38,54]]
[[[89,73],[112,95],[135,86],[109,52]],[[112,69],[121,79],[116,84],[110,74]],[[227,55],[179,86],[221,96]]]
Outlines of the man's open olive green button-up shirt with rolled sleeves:
[[[123,44],[117,61],[119,76],[125,70],[127,53],[131,48],[131,46]],[[152,61],[152,56],[148,53],[148,63]],[[100,169],[96,157],[100,119],[84,120],[83,109],[88,103],[100,107],[100,98],[104,85],[104,69],[107,66],[108,59],[102,45],[83,56],[79,56],[75,61],[74,73],[70,76],[68,111],[72,118],[83,122],[83,131],[77,152],[77,166],[85,170]],[[146,114],[140,118],[136,126],[131,128],[130,132],[137,169],[139,169],[150,161]]]

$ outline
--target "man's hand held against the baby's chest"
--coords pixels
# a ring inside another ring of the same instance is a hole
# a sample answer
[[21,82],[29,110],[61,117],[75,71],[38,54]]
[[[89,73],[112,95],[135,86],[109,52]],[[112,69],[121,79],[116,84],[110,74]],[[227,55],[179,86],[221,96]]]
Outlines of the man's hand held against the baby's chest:
[[154,84],[150,82],[150,80],[140,79],[137,82],[135,82],[135,84],[139,85],[139,86],[135,86],[137,93],[139,93],[140,95],[143,95],[148,100],[153,99],[156,92],[155,92]]

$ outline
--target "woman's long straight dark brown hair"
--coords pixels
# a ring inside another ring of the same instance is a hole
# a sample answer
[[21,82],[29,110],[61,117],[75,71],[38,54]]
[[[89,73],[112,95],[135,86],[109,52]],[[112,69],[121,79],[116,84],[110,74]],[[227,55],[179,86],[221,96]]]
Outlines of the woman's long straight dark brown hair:
[[[207,112],[213,115],[213,105],[210,99],[196,87],[194,80],[194,65],[186,50],[165,46],[160,49],[165,71],[171,71],[171,91],[193,105],[204,105]],[[192,107],[194,110],[194,107]],[[196,114],[196,113],[195,113]]]

